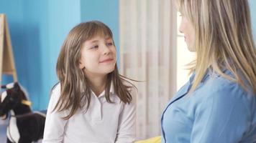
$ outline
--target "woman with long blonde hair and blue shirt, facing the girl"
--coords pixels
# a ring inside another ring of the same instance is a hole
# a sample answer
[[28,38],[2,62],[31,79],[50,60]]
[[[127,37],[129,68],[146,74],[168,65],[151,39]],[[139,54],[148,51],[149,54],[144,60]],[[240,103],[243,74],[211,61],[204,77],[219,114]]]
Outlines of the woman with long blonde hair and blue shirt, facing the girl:
[[162,142],[256,142],[256,49],[247,0],[175,0],[191,78],[161,119]]

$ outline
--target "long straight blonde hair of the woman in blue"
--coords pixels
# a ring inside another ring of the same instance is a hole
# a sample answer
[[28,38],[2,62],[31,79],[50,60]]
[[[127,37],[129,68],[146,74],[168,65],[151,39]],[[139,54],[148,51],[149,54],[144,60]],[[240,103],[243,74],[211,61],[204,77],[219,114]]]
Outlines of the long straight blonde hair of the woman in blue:
[[[221,76],[256,93],[256,49],[247,0],[175,0],[195,30],[196,89],[212,66]],[[228,69],[234,77],[224,74]]]

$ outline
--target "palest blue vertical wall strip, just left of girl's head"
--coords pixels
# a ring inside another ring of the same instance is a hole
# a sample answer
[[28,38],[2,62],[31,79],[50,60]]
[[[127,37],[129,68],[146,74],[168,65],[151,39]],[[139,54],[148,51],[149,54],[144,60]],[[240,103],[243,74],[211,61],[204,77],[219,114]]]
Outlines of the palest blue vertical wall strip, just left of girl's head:
[[40,104],[40,108],[47,105],[50,89],[58,82],[55,66],[63,41],[70,29],[81,22],[80,0],[48,1],[49,46],[47,52],[44,49],[41,51],[44,66],[42,78],[45,79],[43,80],[43,92],[47,98],[42,97],[44,102]]

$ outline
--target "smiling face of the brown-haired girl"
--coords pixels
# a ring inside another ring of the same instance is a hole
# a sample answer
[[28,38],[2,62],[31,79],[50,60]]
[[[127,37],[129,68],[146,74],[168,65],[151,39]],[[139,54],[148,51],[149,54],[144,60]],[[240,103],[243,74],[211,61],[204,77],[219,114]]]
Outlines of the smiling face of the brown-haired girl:
[[80,69],[84,68],[86,77],[109,74],[116,65],[116,47],[110,37],[95,36],[83,43]]

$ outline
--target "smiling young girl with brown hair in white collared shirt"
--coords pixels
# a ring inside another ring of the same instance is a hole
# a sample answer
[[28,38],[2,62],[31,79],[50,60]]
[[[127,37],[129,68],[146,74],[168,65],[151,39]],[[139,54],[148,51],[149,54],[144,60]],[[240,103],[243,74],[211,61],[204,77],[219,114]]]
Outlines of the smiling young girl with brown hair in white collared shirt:
[[134,142],[137,92],[118,73],[108,26],[75,26],[56,69],[60,83],[52,89],[42,142]]

